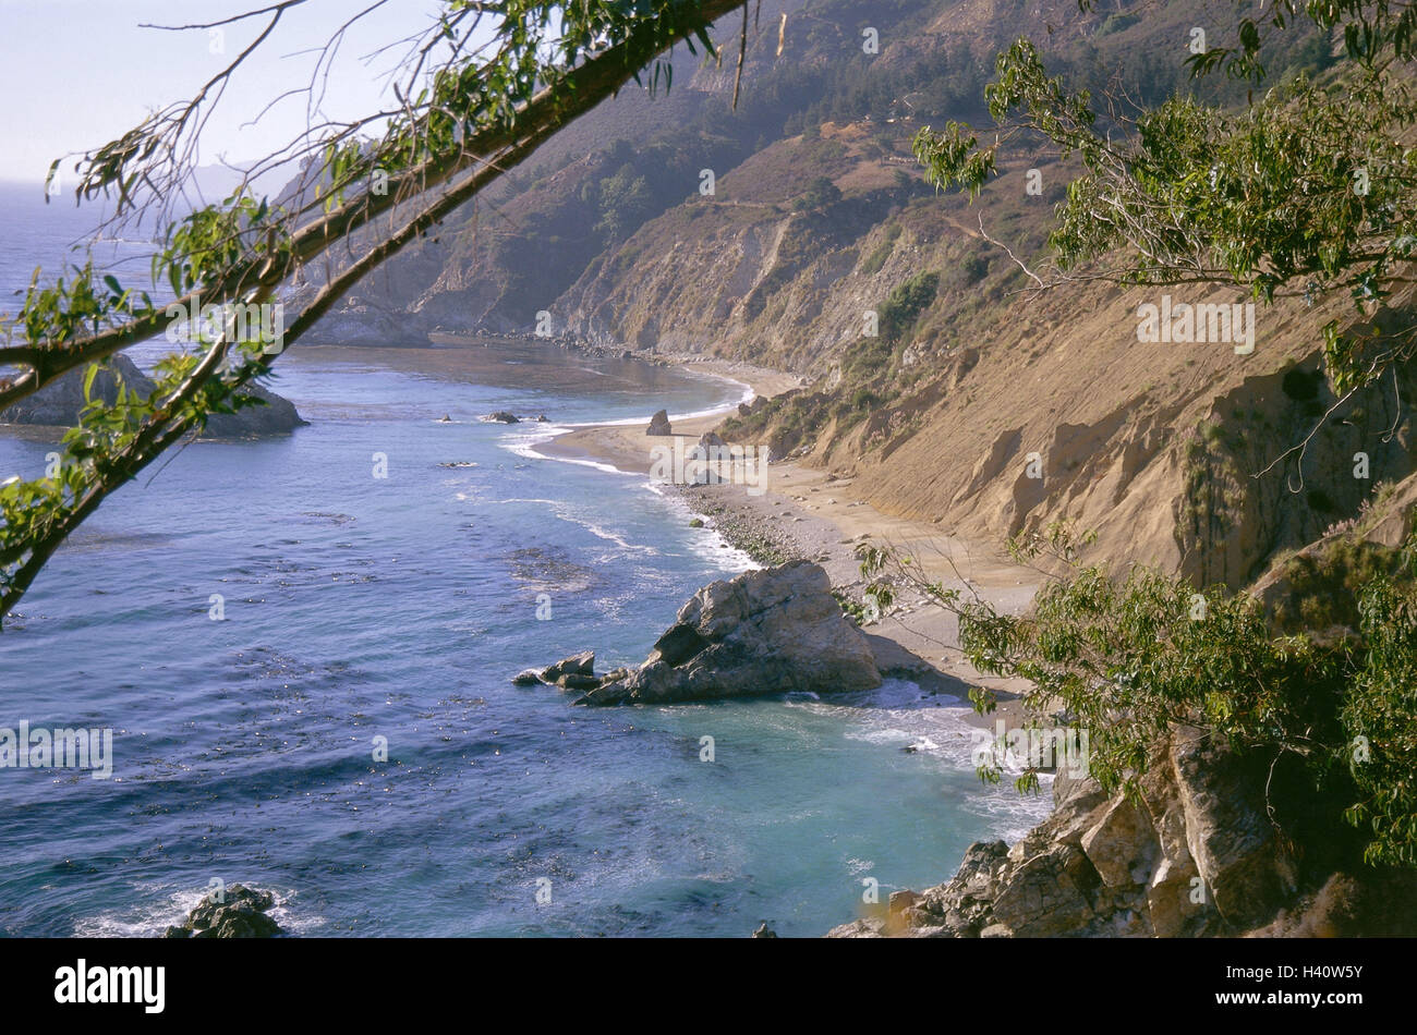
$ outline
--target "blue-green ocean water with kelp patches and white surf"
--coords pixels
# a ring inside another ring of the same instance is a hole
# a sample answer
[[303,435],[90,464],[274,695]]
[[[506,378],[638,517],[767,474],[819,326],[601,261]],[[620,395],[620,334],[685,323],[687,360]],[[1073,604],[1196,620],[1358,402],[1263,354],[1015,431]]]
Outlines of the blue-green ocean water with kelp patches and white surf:
[[[0,309],[82,232],[38,198],[0,188]],[[638,663],[752,566],[643,476],[536,442],[743,385],[509,341],[276,370],[310,426],[149,467],[0,634],[0,728],[113,729],[108,780],[0,769],[4,934],[157,934],[221,881],[303,936],[816,936],[1047,813],[981,784],[964,702],[910,682],[615,709],[510,684]],[[0,480],[51,449],[0,429]]]

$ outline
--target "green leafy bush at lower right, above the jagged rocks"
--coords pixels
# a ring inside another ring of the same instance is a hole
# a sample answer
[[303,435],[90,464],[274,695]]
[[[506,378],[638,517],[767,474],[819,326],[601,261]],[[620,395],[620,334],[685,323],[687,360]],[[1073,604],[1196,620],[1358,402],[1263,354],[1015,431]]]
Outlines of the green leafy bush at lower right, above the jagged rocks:
[[[1175,725],[1196,725],[1241,753],[1302,759],[1326,791],[1348,797],[1343,817],[1365,828],[1369,862],[1417,865],[1417,537],[1400,571],[1335,588],[1352,595],[1360,634],[1323,641],[1277,634],[1248,595],[1202,593],[1141,566],[1117,582],[1080,565],[1078,545],[1063,524],[1010,542],[1019,559],[1050,556],[1066,569],[1026,616],[928,582],[890,548],[859,556],[883,613],[896,586],[925,592],[958,616],[969,664],[1027,680],[1029,711],[1061,708],[1087,729],[1104,789],[1135,793],[1152,746]],[[993,708],[986,690],[971,698]]]

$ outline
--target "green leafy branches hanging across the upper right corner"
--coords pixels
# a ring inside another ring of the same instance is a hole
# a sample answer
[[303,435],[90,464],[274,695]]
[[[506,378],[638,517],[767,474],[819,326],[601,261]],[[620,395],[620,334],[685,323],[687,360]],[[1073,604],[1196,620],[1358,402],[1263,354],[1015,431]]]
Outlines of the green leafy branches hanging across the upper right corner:
[[[1002,132],[981,144],[962,123],[927,126],[915,154],[938,187],[971,194],[996,174],[1012,139],[1041,136],[1058,157],[1078,160],[1050,236],[1060,280],[1101,265],[1121,283],[1240,285],[1265,302],[1343,292],[1366,313],[1407,282],[1417,258],[1417,159],[1407,144],[1417,103],[1401,68],[1414,18],[1407,4],[1271,6],[1263,25],[1241,17],[1236,45],[1192,55],[1192,75],[1260,84],[1261,58],[1304,23],[1321,38],[1342,31],[1336,76],[1319,85],[1299,75],[1250,95],[1238,112],[1172,95],[1138,109],[1131,125],[1115,99],[1100,108],[1019,40],[985,89]],[[1322,42],[1311,50],[1325,54]],[[1322,334],[1340,394],[1417,350],[1411,328],[1345,334],[1335,320]]]

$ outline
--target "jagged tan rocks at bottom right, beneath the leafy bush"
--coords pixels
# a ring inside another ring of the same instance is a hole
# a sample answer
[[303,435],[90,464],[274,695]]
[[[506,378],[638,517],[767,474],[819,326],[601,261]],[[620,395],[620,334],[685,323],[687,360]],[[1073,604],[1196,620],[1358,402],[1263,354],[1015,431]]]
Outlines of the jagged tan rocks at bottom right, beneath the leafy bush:
[[1144,774],[1139,800],[1060,773],[1053,814],[1016,845],[975,842],[948,884],[897,892],[886,915],[830,937],[1251,930],[1291,906],[1297,891],[1254,776],[1202,731],[1178,728]]

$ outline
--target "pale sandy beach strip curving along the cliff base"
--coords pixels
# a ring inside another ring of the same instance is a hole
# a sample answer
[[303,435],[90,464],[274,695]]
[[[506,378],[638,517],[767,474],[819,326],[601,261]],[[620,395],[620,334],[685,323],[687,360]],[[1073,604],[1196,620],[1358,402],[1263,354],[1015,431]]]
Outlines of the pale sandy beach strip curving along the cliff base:
[[[771,398],[801,385],[779,371],[747,364],[694,357],[689,370],[750,385],[754,395]],[[687,450],[721,423],[731,409],[689,419],[674,419],[672,436],[648,436],[645,425],[595,425],[560,435],[538,450],[554,459],[595,460],[619,470],[649,474],[655,446]],[[1000,610],[1017,613],[1037,590],[1037,573],[1016,565],[996,544],[965,542],[942,534],[937,525],[883,514],[869,500],[869,487],[854,479],[792,462],[774,462],[767,477],[751,484],[677,484],[687,504],[703,515],[706,534],[720,534],[760,562],[808,558],[820,564],[833,588],[860,599],[863,579],[856,548],[862,542],[890,544],[914,556],[932,581],[972,589]],[[965,698],[971,687],[999,694],[992,716],[1009,725],[1024,719],[1019,681],[983,677],[959,651],[955,619],[918,595],[905,595],[886,616],[864,627],[887,675],[910,678],[922,688]]]

